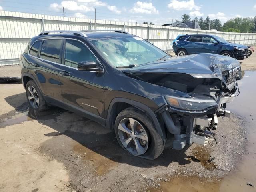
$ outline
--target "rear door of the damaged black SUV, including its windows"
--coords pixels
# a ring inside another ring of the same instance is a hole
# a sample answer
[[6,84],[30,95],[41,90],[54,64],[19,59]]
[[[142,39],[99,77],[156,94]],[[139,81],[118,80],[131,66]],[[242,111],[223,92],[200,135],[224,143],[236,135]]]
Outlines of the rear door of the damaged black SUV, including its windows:
[[28,52],[33,58],[30,60],[30,69],[34,72],[42,93],[60,101],[58,70],[61,63],[62,42],[63,39],[38,40]]

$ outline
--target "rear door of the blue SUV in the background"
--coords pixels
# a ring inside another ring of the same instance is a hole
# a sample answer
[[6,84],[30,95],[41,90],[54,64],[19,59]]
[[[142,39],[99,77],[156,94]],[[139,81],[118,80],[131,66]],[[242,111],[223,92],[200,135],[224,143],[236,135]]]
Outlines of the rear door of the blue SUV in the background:
[[197,54],[201,53],[202,46],[202,36],[201,35],[193,35],[188,37],[186,40],[187,45],[185,47],[188,54]]

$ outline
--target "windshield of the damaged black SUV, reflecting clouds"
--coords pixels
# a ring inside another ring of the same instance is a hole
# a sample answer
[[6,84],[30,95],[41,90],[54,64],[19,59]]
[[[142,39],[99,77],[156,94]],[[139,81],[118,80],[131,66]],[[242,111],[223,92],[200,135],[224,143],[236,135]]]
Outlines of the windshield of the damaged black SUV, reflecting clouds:
[[107,37],[90,42],[114,67],[138,66],[167,56],[166,52],[139,37]]

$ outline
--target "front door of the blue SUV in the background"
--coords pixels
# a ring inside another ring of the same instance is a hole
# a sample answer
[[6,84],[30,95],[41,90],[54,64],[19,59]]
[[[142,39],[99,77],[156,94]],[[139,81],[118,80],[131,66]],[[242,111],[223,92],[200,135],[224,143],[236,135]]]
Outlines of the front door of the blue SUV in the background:
[[213,43],[216,41],[213,37],[204,35],[202,36],[202,53],[214,53],[217,54],[219,44]]

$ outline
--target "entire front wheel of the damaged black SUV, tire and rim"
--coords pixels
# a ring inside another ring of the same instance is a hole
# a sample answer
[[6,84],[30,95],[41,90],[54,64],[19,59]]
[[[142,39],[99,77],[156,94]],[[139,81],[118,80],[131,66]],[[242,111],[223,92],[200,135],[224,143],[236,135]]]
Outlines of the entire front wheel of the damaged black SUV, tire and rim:
[[118,114],[115,134],[120,146],[134,156],[152,160],[164,150],[164,142],[152,120],[134,107]]

